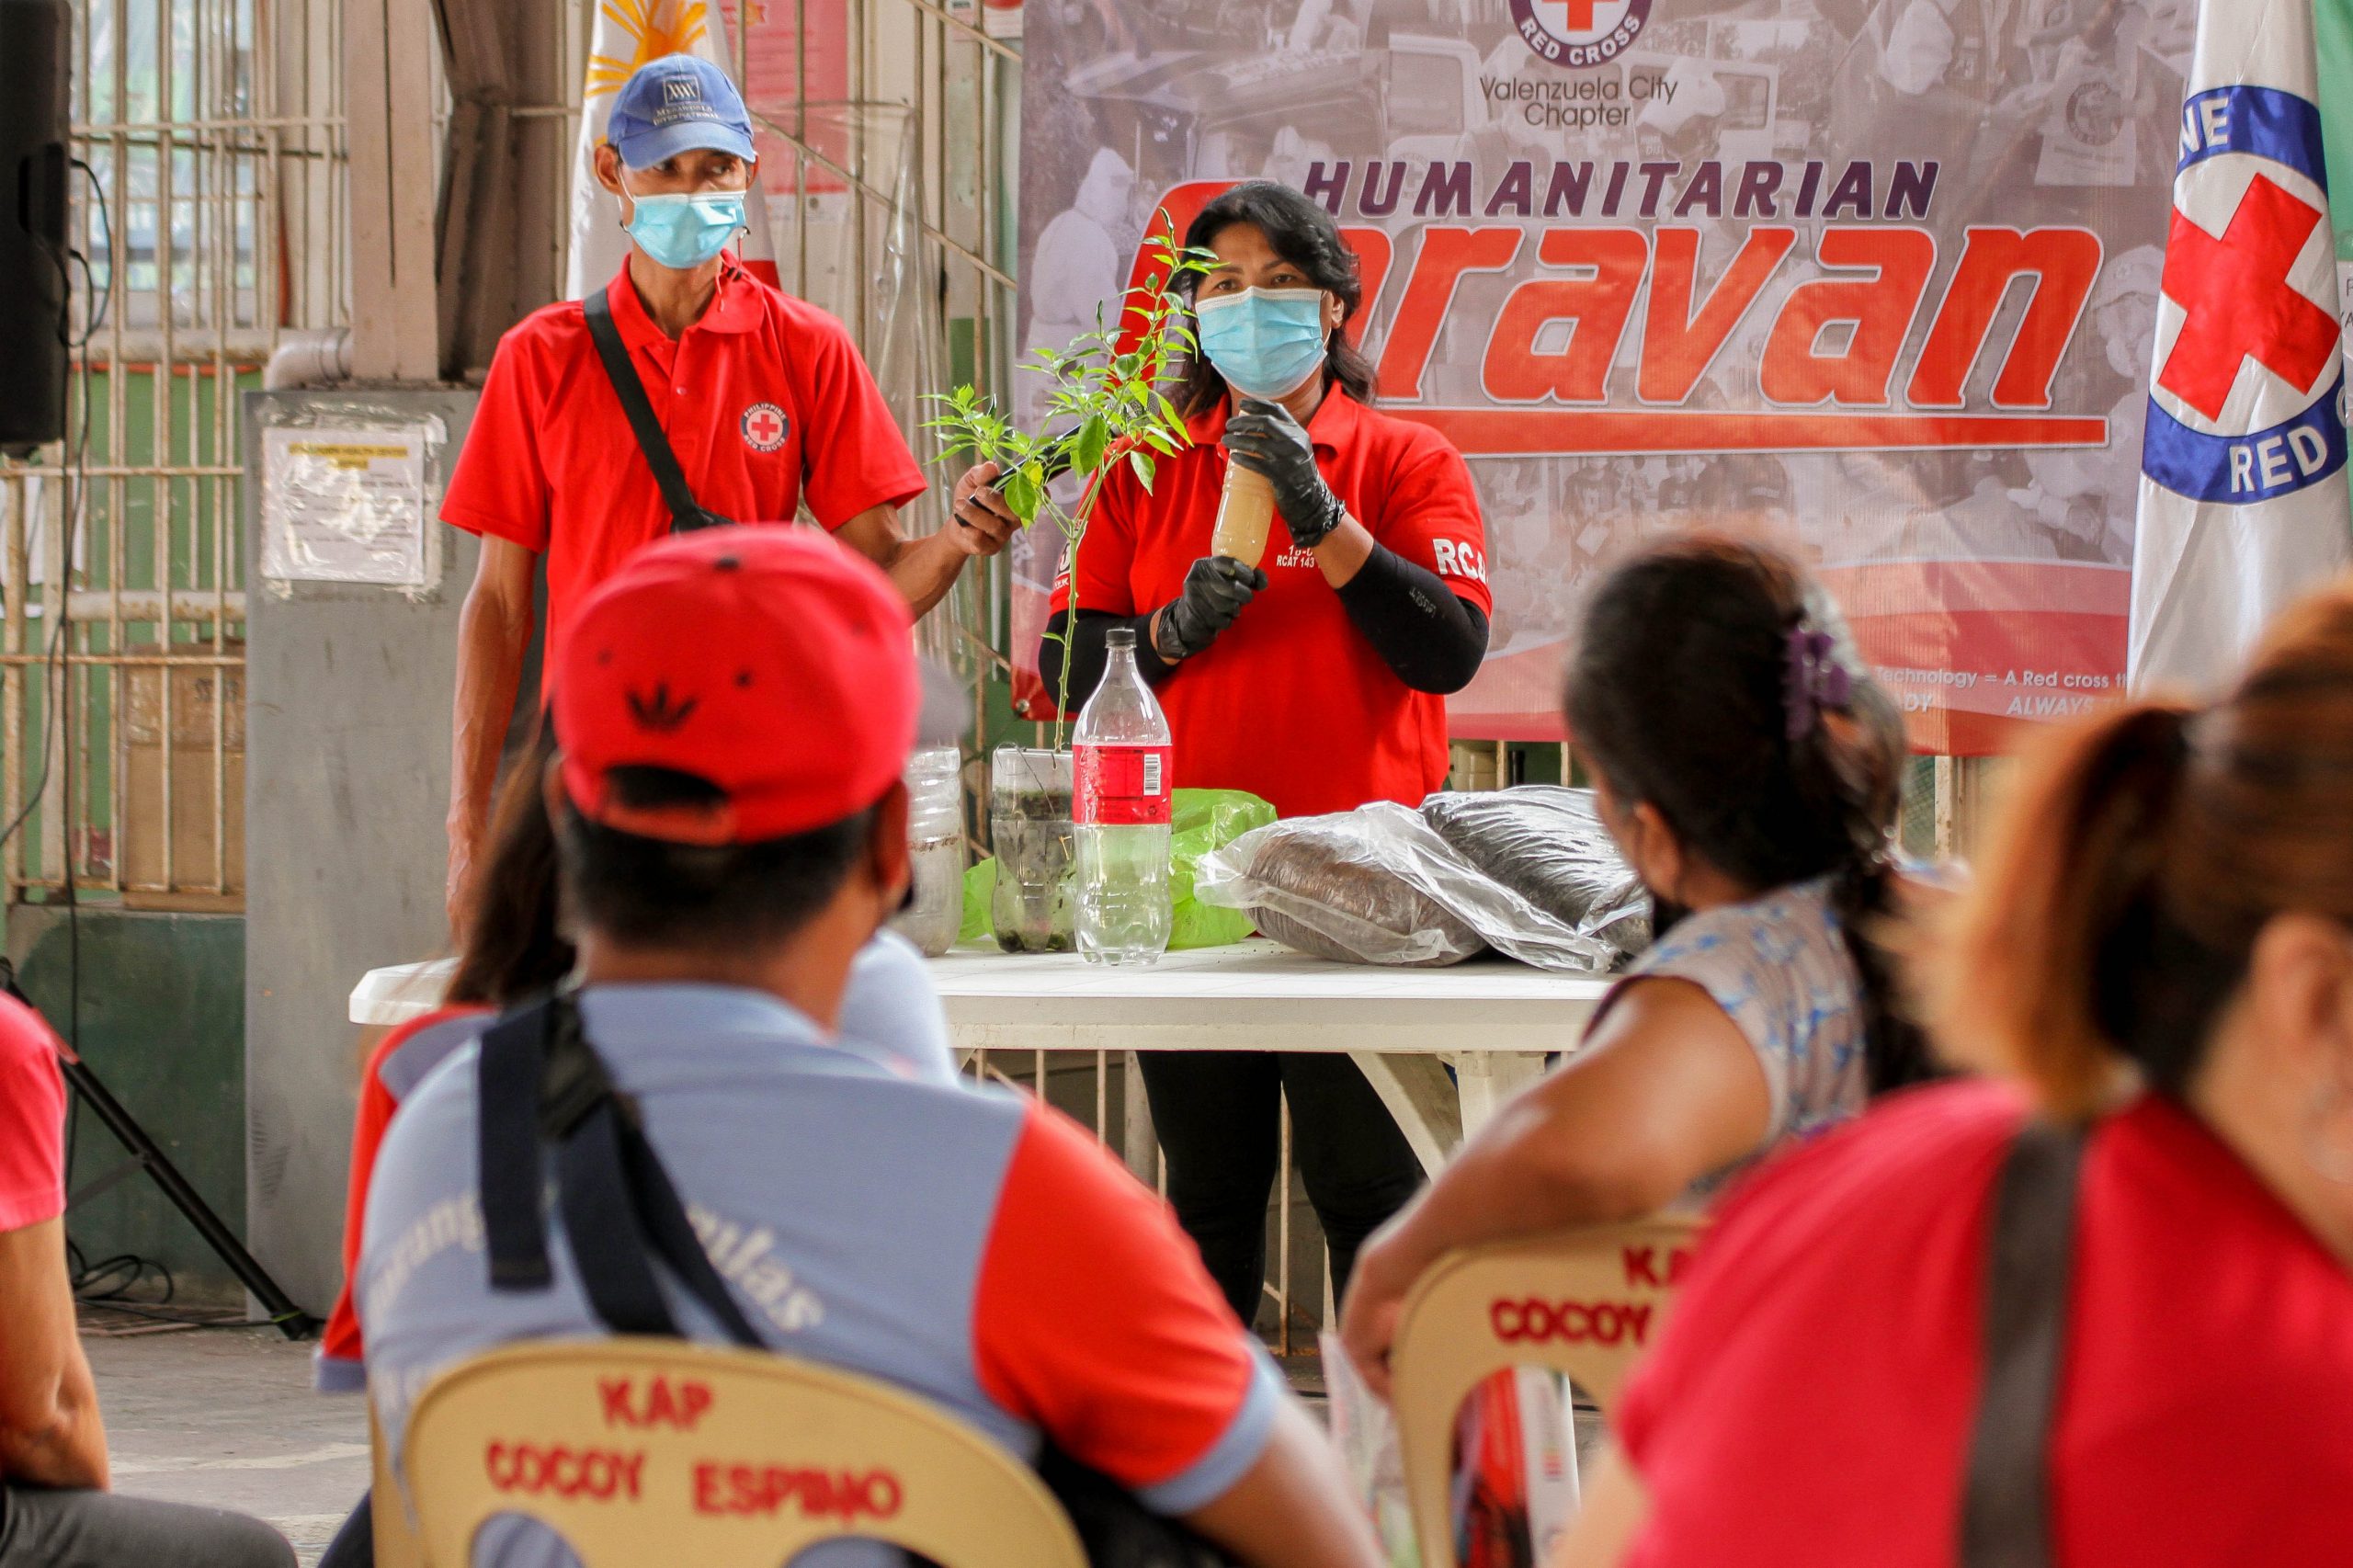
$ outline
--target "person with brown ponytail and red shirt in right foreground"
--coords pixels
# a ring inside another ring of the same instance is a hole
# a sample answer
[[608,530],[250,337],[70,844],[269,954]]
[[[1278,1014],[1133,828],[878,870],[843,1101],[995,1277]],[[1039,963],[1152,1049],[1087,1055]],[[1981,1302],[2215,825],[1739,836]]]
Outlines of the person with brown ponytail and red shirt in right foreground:
[[[2214,706],[2054,737],[1932,954],[1941,1041],[1995,1078],[1901,1095],[1734,1201],[1562,1563],[2353,1561],[2346,822],[2353,582]],[[2017,1321],[1988,1250],[2014,1144],[2052,1125],[2085,1142],[2045,1420],[2031,1380],[1988,1391]],[[1974,1535],[2012,1556],[1962,1556],[1965,1516],[2021,1502],[2024,1540]]]

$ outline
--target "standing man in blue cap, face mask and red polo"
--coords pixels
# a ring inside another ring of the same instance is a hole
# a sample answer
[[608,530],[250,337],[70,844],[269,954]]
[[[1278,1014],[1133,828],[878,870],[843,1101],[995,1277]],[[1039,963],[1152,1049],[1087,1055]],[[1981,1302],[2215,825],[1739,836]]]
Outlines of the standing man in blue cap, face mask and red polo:
[[[534,311],[489,363],[442,499],[442,520],[482,537],[459,619],[452,928],[489,822],[541,556],[553,652],[591,589],[682,527],[791,523],[807,506],[889,572],[915,614],[1012,532],[981,506],[929,539],[899,530],[922,471],[842,323],[727,250],[758,167],[725,71],[692,54],[638,68],[595,148],[628,261],[602,294]],[[965,476],[958,499],[979,485]]]

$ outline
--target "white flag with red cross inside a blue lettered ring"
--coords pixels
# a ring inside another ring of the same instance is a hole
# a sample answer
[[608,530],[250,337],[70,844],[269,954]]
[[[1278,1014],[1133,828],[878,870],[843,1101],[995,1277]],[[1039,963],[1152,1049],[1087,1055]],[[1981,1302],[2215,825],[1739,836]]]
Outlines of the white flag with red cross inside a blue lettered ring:
[[2132,546],[2134,687],[2212,690],[2353,563],[2311,0],[2205,0]]

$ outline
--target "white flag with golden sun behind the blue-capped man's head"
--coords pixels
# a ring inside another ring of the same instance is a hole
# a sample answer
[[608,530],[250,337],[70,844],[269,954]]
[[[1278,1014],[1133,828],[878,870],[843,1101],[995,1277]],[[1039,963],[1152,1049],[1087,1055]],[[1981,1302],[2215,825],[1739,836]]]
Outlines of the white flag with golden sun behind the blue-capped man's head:
[[[579,299],[612,283],[621,271],[621,257],[628,254],[619,200],[595,179],[595,151],[605,144],[605,122],[612,120],[621,82],[664,54],[701,54],[734,75],[727,19],[718,0],[605,0],[595,7],[581,134],[572,146],[572,261],[565,268],[565,299]],[[760,144],[758,125],[753,120],[753,146]],[[767,228],[767,202],[758,181],[744,202],[744,228],[739,259],[755,278],[776,283],[776,242]]]

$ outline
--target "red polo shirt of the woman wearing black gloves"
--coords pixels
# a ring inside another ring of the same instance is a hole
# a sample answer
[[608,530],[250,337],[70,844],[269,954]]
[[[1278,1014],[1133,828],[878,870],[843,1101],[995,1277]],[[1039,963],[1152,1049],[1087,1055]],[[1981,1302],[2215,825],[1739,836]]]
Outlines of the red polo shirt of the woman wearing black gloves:
[[[1162,457],[1151,492],[1120,466],[1078,551],[1080,610],[1144,614],[1184,591],[1209,553],[1226,483],[1226,405],[1188,424],[1193,447]],[[1428,426],[1332,391],[1308,421],[1315,466],[1372,537],[1438,572],[1482,612],[1487,532],[1471,471]],[[1417,692],[1348,619],[1311,551],[1280,518],[1266,539],[1266,591],[1158,687],[1176,737],[1176,782],[1247,789],[1285,817],[1367,800],[1421,805],[1447,777],[1447,699]],[[1054,589],[1066,610],[1071,586]]]

